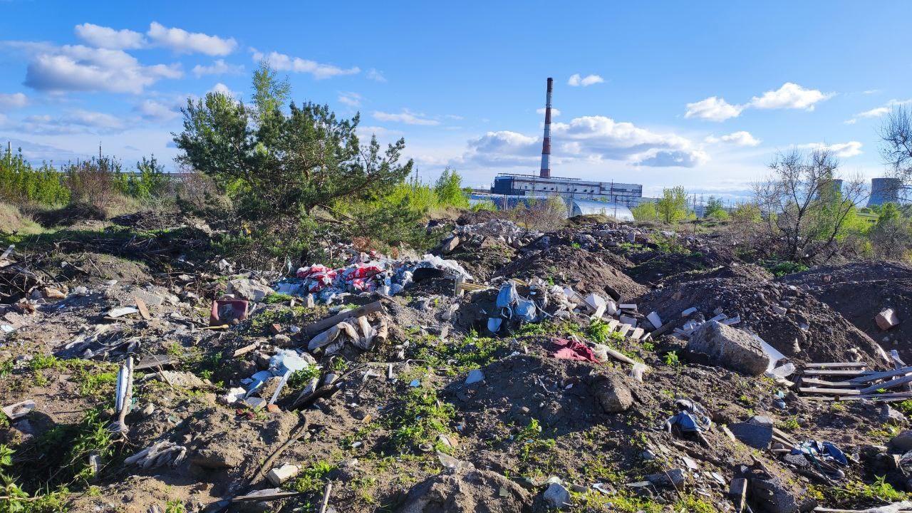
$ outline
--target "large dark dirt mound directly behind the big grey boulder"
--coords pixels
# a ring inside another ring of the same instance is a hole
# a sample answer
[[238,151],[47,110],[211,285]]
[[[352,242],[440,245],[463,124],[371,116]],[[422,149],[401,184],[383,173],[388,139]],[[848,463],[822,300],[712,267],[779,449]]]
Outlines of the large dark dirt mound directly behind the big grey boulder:
[[719,309],[729,317],[739,316],[738,328],[754,331],[799,361],[855,361],[852,350],[857,350],[869,363],[882,363],[874,340],[796,287],[741,278],[707,279],[655,290],[640,298],[638,305],[642,311],[657,311],[666,322],[680,319],[690,307],[699,309],[706,319]]

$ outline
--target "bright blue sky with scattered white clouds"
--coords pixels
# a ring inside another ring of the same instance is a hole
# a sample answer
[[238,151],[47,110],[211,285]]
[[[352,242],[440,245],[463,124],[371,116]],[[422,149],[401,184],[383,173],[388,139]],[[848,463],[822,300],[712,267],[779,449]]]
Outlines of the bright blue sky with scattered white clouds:
[[912,99],[907,2],[381,4],[5,1],[0,140],[173,168],[186,98],[247,99],[266,58],[296,101],[405,137],[421,178],[480,185],[537,172],[554,77],[554,175],[734,198],[793,146],[884,173],[877,128]]

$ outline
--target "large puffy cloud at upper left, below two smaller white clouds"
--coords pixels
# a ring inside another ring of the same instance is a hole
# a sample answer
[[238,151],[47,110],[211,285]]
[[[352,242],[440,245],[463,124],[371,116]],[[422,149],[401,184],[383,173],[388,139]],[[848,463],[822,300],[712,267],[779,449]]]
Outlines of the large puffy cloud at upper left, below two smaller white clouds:
[[160,79],[179,79],[179,64],[143,66],[122,50],[82,45],[26,46],[35,55],[26,86],[45,91],[109,91],[139,94]]

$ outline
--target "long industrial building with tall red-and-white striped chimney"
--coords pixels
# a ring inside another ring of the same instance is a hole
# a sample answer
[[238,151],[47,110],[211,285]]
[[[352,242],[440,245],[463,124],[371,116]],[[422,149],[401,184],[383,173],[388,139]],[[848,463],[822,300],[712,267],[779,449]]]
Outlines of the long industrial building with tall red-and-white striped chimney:
[[[623,205],[625,210],[644,201],[643,186],[638,183],[596,182],[579,178],[551,176],[551,98],[554,79],[548,79],[544,104],[544,140],[542,141],[542,166],[538,174],[500,173],[494,178],[490,191],[476,194],[493,194],[509,197],[548,197],[559,195],[568,208],[575,201]],[[490,198],[493,199],[493,198]],[[498,204],[498,202],[494,202]],[[509,204],[509,201],[502,202]],[[503,208],[503,207],[502,207]],[[614,206],[609,210],[614,211]]]

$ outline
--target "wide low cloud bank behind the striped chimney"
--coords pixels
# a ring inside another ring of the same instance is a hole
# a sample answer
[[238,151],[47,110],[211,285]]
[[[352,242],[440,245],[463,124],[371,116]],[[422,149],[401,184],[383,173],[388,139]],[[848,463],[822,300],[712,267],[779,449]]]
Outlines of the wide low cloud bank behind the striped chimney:
[[[554,162],[627,162],[639,166],[693,167],[709,155],[688,139],[673,133],[639,128],[604,116],[584,116],[568,123],[554,123]],[[489,131],[469,141],[463,161],[481,165],[534,165],[542,152],[542,139],[514,131]]]

